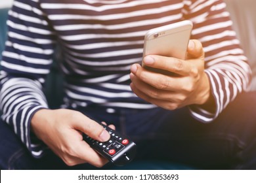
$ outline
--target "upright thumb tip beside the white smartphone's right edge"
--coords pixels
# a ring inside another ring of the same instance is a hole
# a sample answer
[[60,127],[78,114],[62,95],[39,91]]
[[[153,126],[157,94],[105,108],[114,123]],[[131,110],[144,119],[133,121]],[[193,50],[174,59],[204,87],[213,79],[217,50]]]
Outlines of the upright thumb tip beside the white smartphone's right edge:
[[186,59],[203,58],[203,57],[204,57],[204,52],[203,52],[202,43],[196,39],[191,39],[188,42]]

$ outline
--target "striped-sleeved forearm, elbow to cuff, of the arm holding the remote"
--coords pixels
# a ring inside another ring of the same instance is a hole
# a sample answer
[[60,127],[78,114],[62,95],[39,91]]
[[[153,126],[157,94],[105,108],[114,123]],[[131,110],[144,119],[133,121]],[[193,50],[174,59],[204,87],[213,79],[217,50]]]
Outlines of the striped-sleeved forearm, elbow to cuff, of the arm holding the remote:
[[9,124],[33,156],[41,156],[42,144],[31,139],[30,122],[40,108],[47,108],[47,101],[37,82],[28,78],[1,80],[2,118]]

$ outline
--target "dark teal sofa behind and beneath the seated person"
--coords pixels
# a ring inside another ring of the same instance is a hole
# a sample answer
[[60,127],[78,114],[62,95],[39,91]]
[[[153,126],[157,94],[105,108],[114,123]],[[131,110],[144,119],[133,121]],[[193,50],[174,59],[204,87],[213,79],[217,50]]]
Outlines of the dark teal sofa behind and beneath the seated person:
[[[251,69],[253,71],[253,80],[251,90],[256,90],[256,12],[254,7],[255,0],[225,0],[227,9],[234,22],[234,29],[238,33],[238,38],[241,41],[242,48],[244,48],[245,55],[249,60]],[[0,61],[1,52],[4,49],[5,40],[7,38],[7,12],[8,8],[0,8]],[[58,50],[56,50],[55,60],[60,57]],[[51,108],[56,108],[60,105],[63,96],[62,90],[62,75],[58,71],[56,64],[53,65],[51,73],[47,78],[44,89],[47,100]],[[126,167],[127,169],[194,169],[186,165],[177,165],[166,162],[144,162],[133,165],[134,167]]]

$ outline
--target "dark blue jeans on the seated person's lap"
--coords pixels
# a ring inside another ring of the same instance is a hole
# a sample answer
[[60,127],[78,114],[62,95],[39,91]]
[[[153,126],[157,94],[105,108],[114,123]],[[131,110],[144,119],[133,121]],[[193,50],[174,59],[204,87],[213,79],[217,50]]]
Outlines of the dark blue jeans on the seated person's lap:
[[[81,112],[116,125],[117,131],[137,143],[137,157],[121,169],[256,169],[255,107],[256,93],[243,93],[210,124],[196,121],[187,108],[109,112],[109,108],[87,107]],[[50,150],[41,159],[32,158],[3,122],[0,131],[1,169],[96,169],[88,164],[68,167]],[[116,167],[108,164],[102,169]]]

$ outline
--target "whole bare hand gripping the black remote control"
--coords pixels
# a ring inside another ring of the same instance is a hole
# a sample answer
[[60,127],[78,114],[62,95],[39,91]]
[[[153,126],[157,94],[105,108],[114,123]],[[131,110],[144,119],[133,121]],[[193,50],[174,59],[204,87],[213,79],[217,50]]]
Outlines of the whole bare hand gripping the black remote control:
[[102,167],[108,162],[83,141],[82,133],[101,142],[108,141],[110,134],[81,112],[69,109],[38,110],[33,115],[31,129],[67,165],[90,163]]

